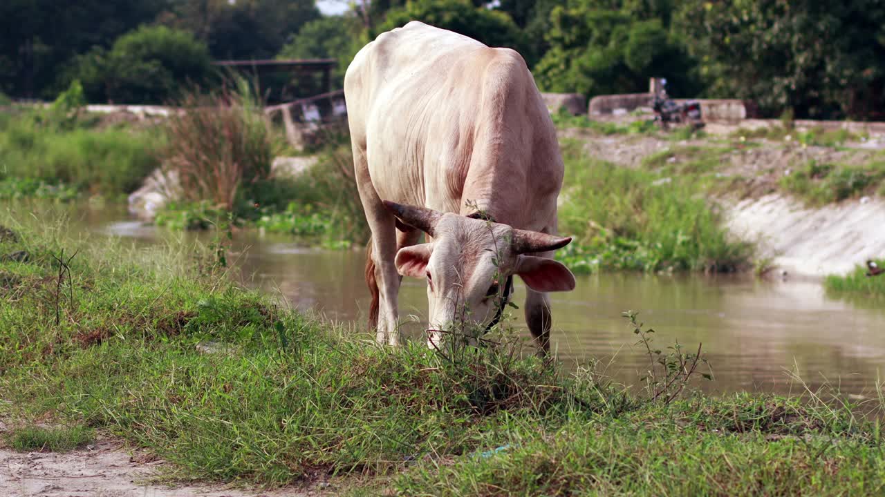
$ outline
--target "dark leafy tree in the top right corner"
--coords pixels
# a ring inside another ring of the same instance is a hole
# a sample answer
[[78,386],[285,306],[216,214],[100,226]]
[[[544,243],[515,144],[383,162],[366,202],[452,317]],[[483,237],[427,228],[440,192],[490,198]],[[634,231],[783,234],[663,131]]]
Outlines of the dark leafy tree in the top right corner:
[[689,38],[712,96],[749,98],[768,115],[881,114],[885,9],[866,0],[683,2]]

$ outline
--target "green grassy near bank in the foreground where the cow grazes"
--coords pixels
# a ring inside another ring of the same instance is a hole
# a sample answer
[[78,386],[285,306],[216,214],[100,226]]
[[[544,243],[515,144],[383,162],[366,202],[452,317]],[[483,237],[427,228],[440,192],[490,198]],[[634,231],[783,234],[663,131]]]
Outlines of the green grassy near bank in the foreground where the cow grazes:
[[652,400],[654,385],[627,390],[593,367],[567,374],[519,353],[509,333],[480,349],[378,348],[235,287],[212,251],[77,246],[0,223],[16,232],[0,254],[27,252],[0,263],[11,447],[111,434],[181,478],[276,486],[335,474],[359,477],[348,490],[362,494],[885,488],[880,426],[850,405]]

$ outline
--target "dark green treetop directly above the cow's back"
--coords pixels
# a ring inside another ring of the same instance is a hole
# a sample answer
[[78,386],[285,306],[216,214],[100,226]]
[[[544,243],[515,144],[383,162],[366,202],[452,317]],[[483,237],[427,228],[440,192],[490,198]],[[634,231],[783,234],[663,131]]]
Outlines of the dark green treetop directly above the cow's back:
[[523,51],[526,40],[519,27],[502,11],[476,7],[469,0],[414,0],[387,13],[374,35],[419,20],[479,40],[490,47]]

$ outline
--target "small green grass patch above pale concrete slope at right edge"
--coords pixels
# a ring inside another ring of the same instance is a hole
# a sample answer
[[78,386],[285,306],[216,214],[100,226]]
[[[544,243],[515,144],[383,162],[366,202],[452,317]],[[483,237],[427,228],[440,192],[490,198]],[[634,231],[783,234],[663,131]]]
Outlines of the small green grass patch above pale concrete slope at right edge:
[[861,166],[811,161],[780,180],[781,188],[805,202],[821,205],[872,193],[885,180],[885,163]]

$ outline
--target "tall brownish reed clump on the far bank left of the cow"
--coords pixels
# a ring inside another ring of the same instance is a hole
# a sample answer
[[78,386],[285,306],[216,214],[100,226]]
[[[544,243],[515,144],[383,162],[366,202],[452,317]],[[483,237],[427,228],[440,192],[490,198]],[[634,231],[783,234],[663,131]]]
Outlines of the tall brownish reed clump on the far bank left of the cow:
[[165,123],[165,172],[181,182],[185,201],[235,210],[267,180],[276,144],[261,105],[243,80],[237,91],[190,93]]

